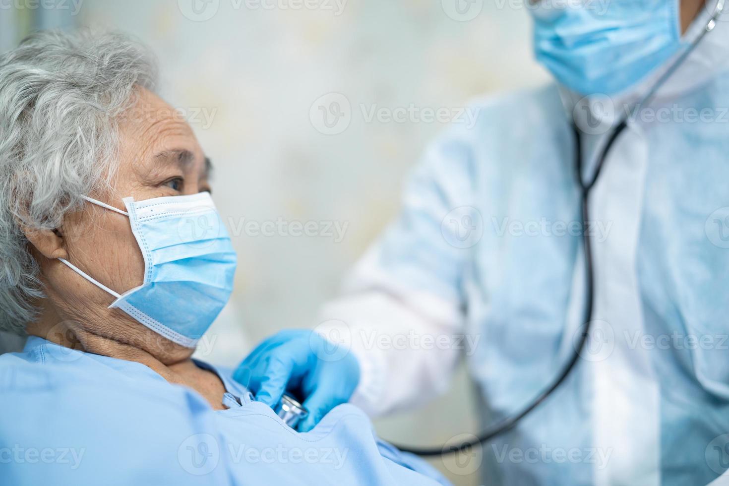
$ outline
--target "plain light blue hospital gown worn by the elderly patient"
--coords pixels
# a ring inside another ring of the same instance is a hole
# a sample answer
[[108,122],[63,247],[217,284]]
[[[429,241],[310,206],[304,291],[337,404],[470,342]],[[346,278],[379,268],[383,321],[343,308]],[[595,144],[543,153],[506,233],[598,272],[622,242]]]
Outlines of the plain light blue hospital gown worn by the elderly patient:
[[230,373],[225,410],[133,361],[30,337],[0,356],[2,485],[437,485],[356,407],[300,434]]

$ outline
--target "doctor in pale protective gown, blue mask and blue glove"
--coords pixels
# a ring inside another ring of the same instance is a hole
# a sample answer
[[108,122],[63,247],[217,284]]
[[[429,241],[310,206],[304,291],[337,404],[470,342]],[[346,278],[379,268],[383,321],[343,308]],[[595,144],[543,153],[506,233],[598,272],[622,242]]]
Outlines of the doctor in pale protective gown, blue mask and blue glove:
[[474,127],[429,146],[399,216],[324,307],[317,330],[350,352],[322,359],[316,334],[287,331],[238,380],[272,404],[300,391],[306,430],[347,400],[372,415],[421,404],[465,356],[487,428],[579,350],[554,393],[484,448],[488,484],[722,474],[729,18],[712,23],[716,7],[532,4],[537,60],[557,84],[476,101]]

